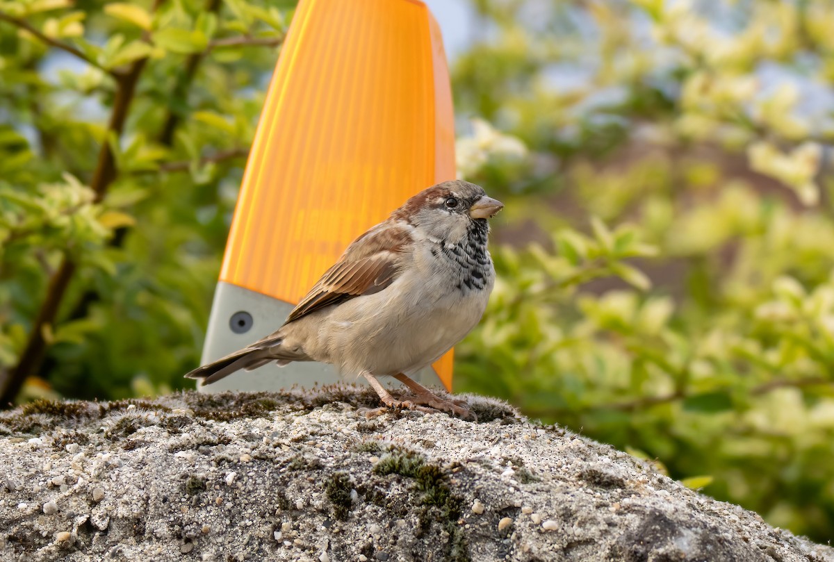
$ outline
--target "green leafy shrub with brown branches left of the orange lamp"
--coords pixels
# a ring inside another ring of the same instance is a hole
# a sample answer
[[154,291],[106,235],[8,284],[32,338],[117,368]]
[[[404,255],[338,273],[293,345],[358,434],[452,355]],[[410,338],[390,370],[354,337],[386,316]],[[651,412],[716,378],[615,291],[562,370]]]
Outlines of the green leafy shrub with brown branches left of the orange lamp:
[[0,2],[0,366],[16,363],[69,258],[42,379],[87,399],[183,386],[290,16],[239,0]]

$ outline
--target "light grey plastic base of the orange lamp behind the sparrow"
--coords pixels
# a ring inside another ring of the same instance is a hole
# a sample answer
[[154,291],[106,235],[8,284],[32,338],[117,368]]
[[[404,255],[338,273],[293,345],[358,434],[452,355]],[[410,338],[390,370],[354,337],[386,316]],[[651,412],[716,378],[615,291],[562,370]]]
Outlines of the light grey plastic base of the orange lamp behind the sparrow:
[[[208,319],[208,331],[203,346],[200,364],[207,364],[225,355],[244,348],[254,341],[271,334],[284,324],[294,308],[293,304],[273,299],[249,289],[220,281],[214,292],[211,316]],[[252,315],[251,328],[243,334],[232,331],[230,319],[238,312],[245,311]],[[412,378],[427,386],[442,386],[440,378],[431,368],[422,369]],[[398,384],[389,377],[380,379],[384,383]],[[367,384],[362,377],[339,377],[333,365],[309,362],[290,363],[279,367],[274,363],[266,364],[253,371],[240,370],[230,374],[214,384],[197,384],[200,392],[223,392],[225,390],[280,390],[293,385],[311,388],[316,384],[334,384],[337,382],[358,382]]]

